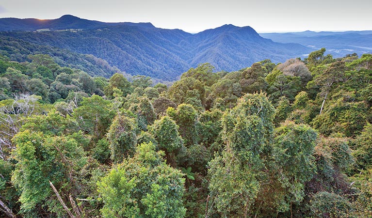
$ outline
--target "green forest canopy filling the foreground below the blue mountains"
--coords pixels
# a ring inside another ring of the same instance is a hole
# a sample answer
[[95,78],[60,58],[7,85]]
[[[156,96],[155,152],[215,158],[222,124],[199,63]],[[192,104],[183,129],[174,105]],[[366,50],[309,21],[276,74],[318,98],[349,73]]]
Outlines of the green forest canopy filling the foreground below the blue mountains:
[[372,216],[372,55],[172,86],[0,58],[0,217]]

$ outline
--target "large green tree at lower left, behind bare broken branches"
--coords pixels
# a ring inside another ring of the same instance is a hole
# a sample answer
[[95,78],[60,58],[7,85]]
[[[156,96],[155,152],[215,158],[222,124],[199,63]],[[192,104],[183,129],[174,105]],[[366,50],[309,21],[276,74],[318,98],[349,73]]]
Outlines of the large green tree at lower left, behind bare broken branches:
[[[13,141],[17,147],[13,153],[17,163],[12,183],[21,192],[21,213],[24,217],[36,217],[37,209],[49,205],[47,209],[51,213],[58,212],[58,217],[65,215],[58,208],[49,181],[65,188],[67,193],[75,191],[74,175],[86,163],[78,142],[70,136],[46,137],[29,130],[18,133]],[[54,203],[46,204],[48,201]]]

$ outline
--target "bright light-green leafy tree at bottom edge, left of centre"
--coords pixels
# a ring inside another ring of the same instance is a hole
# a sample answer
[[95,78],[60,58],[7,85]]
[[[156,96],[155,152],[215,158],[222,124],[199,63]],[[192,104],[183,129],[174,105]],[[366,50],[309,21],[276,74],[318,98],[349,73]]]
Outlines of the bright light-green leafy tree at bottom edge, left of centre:
[[105,205],[105,218],[183,218],[185,179],[162,161],[152,143],[141,144],[136,154],[124,160],[97,183]]

